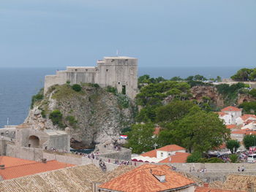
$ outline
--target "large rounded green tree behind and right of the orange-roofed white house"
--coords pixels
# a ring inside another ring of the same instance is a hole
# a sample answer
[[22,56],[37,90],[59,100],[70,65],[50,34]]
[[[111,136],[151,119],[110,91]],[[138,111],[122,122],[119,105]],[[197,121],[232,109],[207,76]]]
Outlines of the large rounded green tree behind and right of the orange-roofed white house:
[[219,147],[230,137],[230,130],[216,114],[200,110],[199,107],[192,107],[171,132],[173,141],[186,147],[189,152],[206,152]]

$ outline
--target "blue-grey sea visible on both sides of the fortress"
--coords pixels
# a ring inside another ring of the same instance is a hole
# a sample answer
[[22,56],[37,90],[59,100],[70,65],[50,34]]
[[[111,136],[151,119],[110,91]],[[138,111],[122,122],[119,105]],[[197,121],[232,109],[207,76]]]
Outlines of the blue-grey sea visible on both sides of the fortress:
[[[188,77],[201,74],[206,78],[229,78],[239,67],[139,67],[138,75],[151,77]],[[60,68],[0,68],[0,128],[23,123],[29,113],[31,97],[43,87],[45,75]]]

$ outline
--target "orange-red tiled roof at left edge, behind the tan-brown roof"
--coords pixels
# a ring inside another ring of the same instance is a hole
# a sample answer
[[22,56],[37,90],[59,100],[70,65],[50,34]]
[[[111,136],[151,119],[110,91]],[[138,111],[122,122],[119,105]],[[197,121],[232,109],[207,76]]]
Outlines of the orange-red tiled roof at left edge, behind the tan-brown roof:
[[[24,177],[26,175],[37,174],[40,172],[48,172],[68,166],[74,166],[72,164],[64,164],[56,160],[47,161],[47,163],[37,161],[32,161],[31,163],[28,163],[26,160],[23,160],[21,158],[4,157],[4,159],[4,162],[10,159],[10,162],[13,163],[13,166],[8,163],[5,169],[0,169],[0,176],[4,180],[10,180],[17,177]],[[24,164],[21,164],[20,162],[23,162]]]

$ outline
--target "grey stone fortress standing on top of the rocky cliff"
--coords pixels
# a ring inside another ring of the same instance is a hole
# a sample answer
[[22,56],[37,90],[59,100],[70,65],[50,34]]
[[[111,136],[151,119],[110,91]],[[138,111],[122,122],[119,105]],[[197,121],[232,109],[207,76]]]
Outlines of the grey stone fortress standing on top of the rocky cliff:
[[97,66],[67,66],[67,70],[45,76],[44,93],[52,85],[97,83],[102,88],[112,86],[118,93],[134,99],[138,93],[138,59],[124,56],[105,57]]

